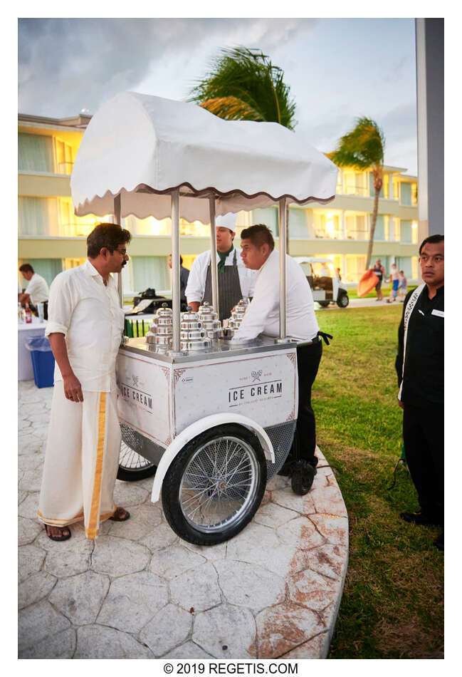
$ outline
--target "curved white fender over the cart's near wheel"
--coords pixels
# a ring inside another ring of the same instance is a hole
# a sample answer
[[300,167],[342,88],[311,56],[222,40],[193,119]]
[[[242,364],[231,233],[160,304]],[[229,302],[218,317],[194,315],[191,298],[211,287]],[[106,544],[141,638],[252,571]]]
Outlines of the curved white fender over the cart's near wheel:
[[159,500],[165,473],[169,469],[172,460],[174,460],[175,456],[177,456],[182,448],[187,445],[190,440],[197,437],[197,435],[204,433],[204,430],[215,428],[216,425],[222,425],[223,423],[238,423],[239,425],[243,425],[244,428],[252,430],[258,437],[258,441],[263,448],[266,459],[274,463],[274,450],[271,440],[268,438],[268,435],[261,425],[258,425],[254,420],[239,414],[213,414],[211,416],[206,416],[206,418],[196,420],[187,428],[184,428],[162,454],[162,458],[157,466],[156,474],[154,475],[154,484],[152,485],[151,500],[153,503]]

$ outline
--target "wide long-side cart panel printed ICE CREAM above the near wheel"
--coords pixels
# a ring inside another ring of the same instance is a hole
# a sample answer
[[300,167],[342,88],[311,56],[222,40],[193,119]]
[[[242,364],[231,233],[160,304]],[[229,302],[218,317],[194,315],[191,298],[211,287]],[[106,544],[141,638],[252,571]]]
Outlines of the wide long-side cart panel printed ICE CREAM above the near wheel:
[[215,413],[238,413],[263,428],[297,418],[295,348],[174,365],[174,435]]

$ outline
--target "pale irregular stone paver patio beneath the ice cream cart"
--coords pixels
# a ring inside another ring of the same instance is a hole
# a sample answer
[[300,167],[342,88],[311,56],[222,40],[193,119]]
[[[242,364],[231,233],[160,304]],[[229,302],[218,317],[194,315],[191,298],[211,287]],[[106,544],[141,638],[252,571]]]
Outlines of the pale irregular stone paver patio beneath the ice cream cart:
[[[52,542],[36,520],[53,388],[19,383],[20,658],[325,658],[342,596],[348,519],[329,467],[305,497],[268,483],[252,522],[199,547],[120,482],[129,522]],[[319,465],[326,465],[318,452]]]

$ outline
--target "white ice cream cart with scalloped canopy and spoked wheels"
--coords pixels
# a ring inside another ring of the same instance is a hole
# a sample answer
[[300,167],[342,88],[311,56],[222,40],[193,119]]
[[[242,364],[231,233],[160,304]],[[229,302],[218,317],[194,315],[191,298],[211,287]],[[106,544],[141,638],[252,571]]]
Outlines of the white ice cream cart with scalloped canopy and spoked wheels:
[[[152,342],[125,338],[117,358],[119,477],[155,473],[152,501],[162,495],[189,542],[241,531],[288,455],[298,413],[297,342],[285,331],[288,204],[330,202],[336,182],[337,167],[281,125],[221,120],[192,103],[121,93],[85,131],[70,180],[75,214],[172,219],[170,316],[158,311]],[[235,345],[204,330],[204,314],[218,314],[216,216],[273,205],[279,336]],[[210,224],[213,308],[202,315],[180,314],[180,215]],[[119,291],[122,302],[121,279]]]

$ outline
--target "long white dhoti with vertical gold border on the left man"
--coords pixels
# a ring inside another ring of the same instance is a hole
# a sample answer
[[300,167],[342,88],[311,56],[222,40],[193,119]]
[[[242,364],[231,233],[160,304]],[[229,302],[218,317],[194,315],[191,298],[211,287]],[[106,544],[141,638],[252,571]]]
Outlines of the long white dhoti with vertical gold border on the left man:
[[83,402],[65,398],[56,381],[43,467],[38,519],[53,527],[83,520],[87,538],[111,517],[119,465],[117,391],[83,391]]

